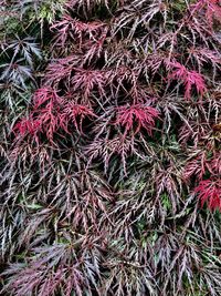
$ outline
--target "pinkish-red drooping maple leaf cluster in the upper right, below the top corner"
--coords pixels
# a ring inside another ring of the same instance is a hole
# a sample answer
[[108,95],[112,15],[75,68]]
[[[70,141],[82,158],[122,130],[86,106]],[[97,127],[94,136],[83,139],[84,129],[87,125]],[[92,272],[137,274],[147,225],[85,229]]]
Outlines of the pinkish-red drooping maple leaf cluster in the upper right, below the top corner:
[[198,94],[203,96],[207,92],[207,86],[203,76],[193,70],[188,70],[185,65],[180,64],[179,62],[170,63],[170,68],[172,69],[172,73],[169,74],[169,80],[178,80],[183,83],[185,85],[185,98],[191,98],[191,91],[194,86]]

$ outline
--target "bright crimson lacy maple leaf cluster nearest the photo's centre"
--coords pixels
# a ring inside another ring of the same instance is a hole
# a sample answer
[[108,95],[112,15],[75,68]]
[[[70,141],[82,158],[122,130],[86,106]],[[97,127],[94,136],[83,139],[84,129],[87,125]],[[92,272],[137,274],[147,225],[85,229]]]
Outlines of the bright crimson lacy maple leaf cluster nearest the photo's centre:
[[151,135],[155,120],[159,119],[159,112],[152,106],[141,104],[119,106],[117,109],[116,124],[125,127],[125,133],[135,127],[135,134],[145,129]]

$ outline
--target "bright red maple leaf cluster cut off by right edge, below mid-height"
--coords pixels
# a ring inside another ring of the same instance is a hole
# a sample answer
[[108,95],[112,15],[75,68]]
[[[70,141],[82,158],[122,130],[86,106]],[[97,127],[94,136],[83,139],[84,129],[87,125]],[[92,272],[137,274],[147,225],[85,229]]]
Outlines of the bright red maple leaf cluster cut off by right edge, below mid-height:
[[210,210],[221,211],[221,180],[201,181],[199,186],[194,188],[194,193],[198,194],[201,206],[207,203]]

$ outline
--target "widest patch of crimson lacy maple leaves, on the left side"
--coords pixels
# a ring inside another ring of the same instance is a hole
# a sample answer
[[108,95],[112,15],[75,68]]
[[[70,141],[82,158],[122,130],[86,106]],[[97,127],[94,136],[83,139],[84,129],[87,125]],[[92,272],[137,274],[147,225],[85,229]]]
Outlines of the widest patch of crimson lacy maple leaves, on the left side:
[[36,135],[43,133],[53,142],[55,133],[63,130],[70,133],[69,124],[82,132],[82,122],[87,116],[95,116],[94,112],[85,105],[75,104],[60,98],[51,89],[40,89],[34,94],[34,105],[28,119],[22,119],[14,126],[14,132],[21,135]]

